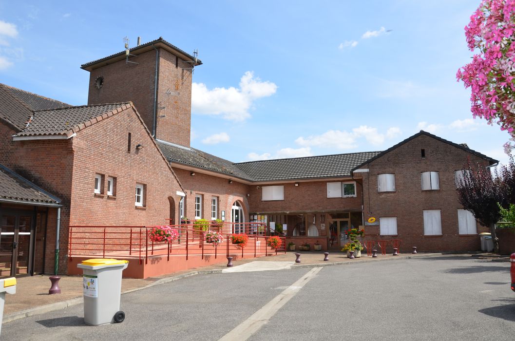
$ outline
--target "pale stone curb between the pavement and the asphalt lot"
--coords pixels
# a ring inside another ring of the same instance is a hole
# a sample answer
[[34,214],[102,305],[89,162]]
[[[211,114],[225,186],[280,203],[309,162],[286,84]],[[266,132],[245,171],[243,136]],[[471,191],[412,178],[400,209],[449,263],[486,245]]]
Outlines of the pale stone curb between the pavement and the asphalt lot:
[[[359,263],[370,263],[370,262],[378,262],[378,261],[379,262],[386,262],[386,261],[394,261],[394,260],[402,260],[402,259],[413,259],[413,258],[431,258],[431,257],[440,256],[440,255],[443,255],[443,253],[427,253],[427,254],[420,254],[420,255],[416,255],[416,256],[408,255],[408,256],[401,256],[399,258],[384,258],[384,259],[379,258],[379,259],[374,259],[374,260],[372,260],[372,259],[370,259],[370,260],[361,260],[361,261],[358,261],[358,262]],[[358,264],[358,262],[355,262],[355,261],[354,262],[353,261],[345,261],[345,262],[317,263],[317,264],[299,264],[299,265],[292,266],[290,269],[307,268],[307,267],[311,267],[311,268],[313,268],[313,267],[324,267],[324,266],[333,266],[333,265]],[[169,282],[177,281],[177,280],[180,280],[180,279],[183,279],[183,278],[186,278],[186,277],[190,277],[190,276],[207,275],[207,274],[221,274],[221,272],[222,272],[222,269],[196,270],[196,271],[186,272],[185,274],[161,278],[161,279],[159,279],[159,280],[157,280],[155,282],[152,282],[150,284],[147,284],[145,286],[141,286],[141,287],[138,287],[138,288],[134,288],[134,289],[130,289],[130,290],[124,291],[122,293],[122,295],[123,294],[132,293],[132,292],[135,292],[135,291],[139,291],[139,290],[143,290],[143,289],[146,289],[146,288],[149,288],[149,287],[152,287],[152,286],[156,286],[156,285],[160,285],[160,284],[164,284],[164,283],[169,283]],[[37,306],[35,308],[29,308],[29,309],[22,310],[22,311],[19,311],[19,312],[15,312],[15,313],[12,313],[12,314],[9,314],[9,315],[5,315],[2,322],[3,323],[12,322],[12,321],[15,321],[15,320],[19,320],[19,319],[30,317],[30,316],[34,316],[34,315],[40,315],[40,314],[44,314],[44,313],[48,313],[48,312],[53,312],[53,311],[56,311],[56,310],[70,308],[71,306],[80,304],[82,302],[83,302],[83,297],[76,297],[76,298],[72,298],[72,299],[69,299],[69,300],[66,300],[66,301],[61,301],[61,302],[41,305],[41,306]]]

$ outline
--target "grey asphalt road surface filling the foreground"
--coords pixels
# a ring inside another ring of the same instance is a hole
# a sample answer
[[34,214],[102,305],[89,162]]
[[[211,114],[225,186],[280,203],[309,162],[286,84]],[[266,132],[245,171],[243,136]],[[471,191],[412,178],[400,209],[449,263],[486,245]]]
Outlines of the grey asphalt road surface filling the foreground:
[[123,295],[123,323],[85,326],[78,305],[5,323],[1,337],[513,340],[509,266],[449,256],[193,276]]

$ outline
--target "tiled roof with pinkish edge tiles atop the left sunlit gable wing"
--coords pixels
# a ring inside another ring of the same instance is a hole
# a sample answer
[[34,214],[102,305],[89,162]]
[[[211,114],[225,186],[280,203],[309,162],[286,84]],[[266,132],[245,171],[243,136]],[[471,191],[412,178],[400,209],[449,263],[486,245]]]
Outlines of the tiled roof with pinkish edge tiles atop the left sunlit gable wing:
[[66,135],[69,137],[73,133],[129,107],[131,107],[130,103],[114,103],[35,111],[28,126],[15,137],[38,135]]

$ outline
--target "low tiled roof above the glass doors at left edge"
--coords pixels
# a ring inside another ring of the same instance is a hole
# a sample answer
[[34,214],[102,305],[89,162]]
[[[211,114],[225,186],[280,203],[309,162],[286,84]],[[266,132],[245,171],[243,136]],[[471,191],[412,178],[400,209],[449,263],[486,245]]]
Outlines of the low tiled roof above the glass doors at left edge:
[[59,206],[61,200],[0,165],[0,201]]

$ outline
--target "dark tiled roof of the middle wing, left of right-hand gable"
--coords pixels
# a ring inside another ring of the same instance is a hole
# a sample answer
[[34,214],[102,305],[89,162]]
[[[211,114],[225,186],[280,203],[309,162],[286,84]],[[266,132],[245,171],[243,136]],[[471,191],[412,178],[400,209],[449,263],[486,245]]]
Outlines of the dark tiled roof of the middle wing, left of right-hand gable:
[[351,169],[380,151],[235,163],[254,181],[279,181],[351,176]]

